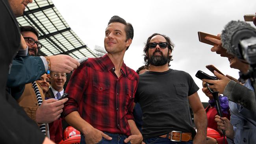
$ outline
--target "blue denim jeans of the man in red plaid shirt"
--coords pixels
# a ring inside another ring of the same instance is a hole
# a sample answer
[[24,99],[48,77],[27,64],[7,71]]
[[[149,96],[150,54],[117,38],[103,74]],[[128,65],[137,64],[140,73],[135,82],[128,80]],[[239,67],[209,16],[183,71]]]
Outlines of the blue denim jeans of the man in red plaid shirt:
[[[124,143],[125,138],[127,138],[127,135],[119,135],[117,133],[106,133],[106,135],[112,138],[112,140],[106,140],[105,138],[102,138],[98,144],[131,144],[130,142]],[[86,144],[84,136],[81,134],[81,140],[80,144]]]

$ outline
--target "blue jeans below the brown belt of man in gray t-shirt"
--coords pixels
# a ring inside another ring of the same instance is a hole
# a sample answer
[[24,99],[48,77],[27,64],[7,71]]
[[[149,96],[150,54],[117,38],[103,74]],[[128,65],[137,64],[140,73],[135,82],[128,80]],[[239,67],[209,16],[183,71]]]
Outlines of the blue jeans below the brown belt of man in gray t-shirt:
[[187,142],[173,142],[169,138],[153,137],[143,140],[146,144],[193,144],[192,140]]

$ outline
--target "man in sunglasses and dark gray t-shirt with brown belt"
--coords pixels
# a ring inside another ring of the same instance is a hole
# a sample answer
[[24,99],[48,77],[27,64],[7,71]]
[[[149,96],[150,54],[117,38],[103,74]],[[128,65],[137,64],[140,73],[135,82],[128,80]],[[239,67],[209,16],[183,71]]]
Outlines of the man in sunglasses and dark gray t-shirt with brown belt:
[[[139,75],[134,100],[139,102],[143,111],[144,141],[191,144],[193,139],[195,144],[206,144],[207,118],[197,94],[199,88],[188,73],[169,68],[172,50],[170,38],[158,33],[148,38],[144,48],[145,66],[149,70]],[[189,105],[194,113],[197,133],[192,127]]]

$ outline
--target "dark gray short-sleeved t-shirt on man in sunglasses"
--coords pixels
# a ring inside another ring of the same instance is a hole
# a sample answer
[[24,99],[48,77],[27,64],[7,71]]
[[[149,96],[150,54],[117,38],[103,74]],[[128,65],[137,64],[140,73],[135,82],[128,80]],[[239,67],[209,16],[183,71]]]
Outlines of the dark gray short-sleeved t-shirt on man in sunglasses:
[[139,75],[135,102],[143,112],[143,138],[165,135],[170,131],[195,133],[189,112],[188,96],[199,88],[186,72],[169,69]]

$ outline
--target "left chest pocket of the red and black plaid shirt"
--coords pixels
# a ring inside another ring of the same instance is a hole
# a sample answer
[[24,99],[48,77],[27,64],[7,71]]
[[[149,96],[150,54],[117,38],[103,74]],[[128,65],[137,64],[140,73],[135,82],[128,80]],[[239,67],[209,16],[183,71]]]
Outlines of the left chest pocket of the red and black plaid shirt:
[[97,105],[109,104],[109,83],[93,82],[93,98],[92,101]]

